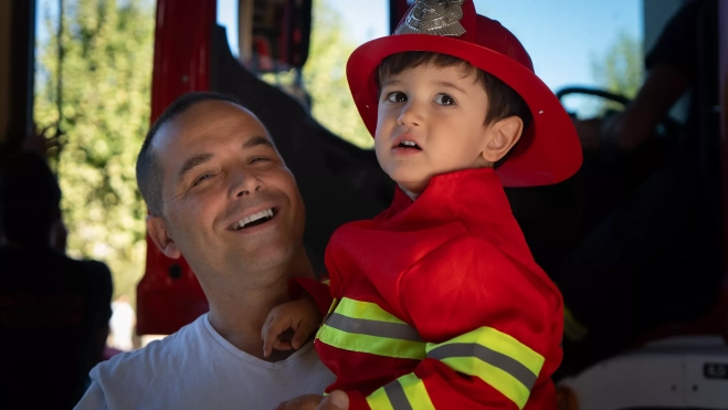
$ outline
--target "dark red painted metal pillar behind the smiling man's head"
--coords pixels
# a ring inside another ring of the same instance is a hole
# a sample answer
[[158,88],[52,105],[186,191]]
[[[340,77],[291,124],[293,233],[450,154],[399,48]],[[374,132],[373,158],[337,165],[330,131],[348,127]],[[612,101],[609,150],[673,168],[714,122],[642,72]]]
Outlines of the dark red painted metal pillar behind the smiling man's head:
[[[151,122],[180,95],[209,90],[210,32],[217,0],[158,0]],[[166,257],[147,238],[145,276],[137,286],[137,334],[168,335],[208,311],[183,260]]]

